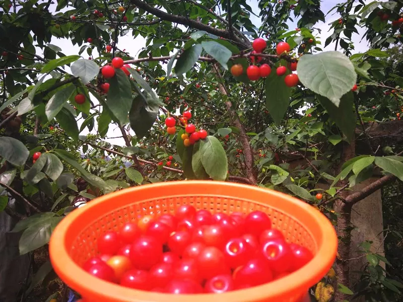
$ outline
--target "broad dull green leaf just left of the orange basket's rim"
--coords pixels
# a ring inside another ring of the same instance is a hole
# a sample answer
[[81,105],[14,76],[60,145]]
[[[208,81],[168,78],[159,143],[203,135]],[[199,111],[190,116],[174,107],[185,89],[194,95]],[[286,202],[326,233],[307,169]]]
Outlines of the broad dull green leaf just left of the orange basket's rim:
[[22,233],[19,242],[20,255],[29,253],[47,244],[50,235],[61,219],[63,217],[49,217],[49,219],[43,219],[26,229]]

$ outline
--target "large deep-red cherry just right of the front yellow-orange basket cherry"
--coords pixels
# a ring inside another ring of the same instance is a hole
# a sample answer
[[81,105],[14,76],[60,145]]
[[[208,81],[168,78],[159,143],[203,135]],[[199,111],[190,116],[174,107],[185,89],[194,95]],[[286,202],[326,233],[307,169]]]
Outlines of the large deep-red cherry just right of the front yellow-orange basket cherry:
[[162,244],[154,237],[141,236],[133,242],[130,259],[139,269],[150,269],[162,257]]

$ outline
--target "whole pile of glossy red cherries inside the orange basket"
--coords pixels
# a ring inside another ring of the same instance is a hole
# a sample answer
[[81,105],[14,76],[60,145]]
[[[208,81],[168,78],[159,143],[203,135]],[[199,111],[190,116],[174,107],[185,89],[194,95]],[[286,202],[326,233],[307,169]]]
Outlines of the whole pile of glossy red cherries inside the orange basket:
[[289,244],[261,211],[212,214],[191,205],[143,216],[97,241],[83,269],[122,286],[164,293],[222,293],[282,278],[312,253]]

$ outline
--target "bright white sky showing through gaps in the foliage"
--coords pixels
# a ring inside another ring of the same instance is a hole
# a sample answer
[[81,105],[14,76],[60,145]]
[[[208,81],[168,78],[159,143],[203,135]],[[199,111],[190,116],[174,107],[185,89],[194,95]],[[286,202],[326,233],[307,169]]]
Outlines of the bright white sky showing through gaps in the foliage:
[[[341,2],[341,0],[323,0],[321,9],[326,14],[333,6],[335,6],[336,4],[338,4],[340,2]],[[369,3],[370,1],[366,0],[365,2]],[[247,4],[251,6],[253,12],[259,11],[256,0],[247,0]],[[50,10],[52,9],[52,7],[54,10],[55,5],[52,5],[50,7]],[[68,8],[66,10],[70,10],[70,9],[71,8]],[[320,22],[315,25],[315,28],[321,29],[321,34],[314,33],[314,35],[319,37],[319,40],[322,42],[322,45],[324,45],[326,38],[330,35],[330,33],[329,33],[330,26],[328,24],[335,20],[338,20],[339,18],[340,18],[340,16],[338,14],[334,15],[332,12],[330,15],[326,16],[326,22],[324,22],[324,23]],[[260,21],[259,17],[252,15],[250,19],[251,19],[251,22],[255,26],[258,27],[261,25],[261,21]],[[296,22],[293,22],[293,23],[290,22],[289,26],[290,26],[290,30],[294,30],[297,27]],[[353,36],[352,36],[352,41],[354,42],[354,45],[355,45],[355,52],[365,52],[368,49],[366,40],[364,39],[363,41],[361,41],[361,37],[363,36],[363,34],[364,34],[364,29],[361,29],[361,30],[359,30],[359,34],[353,34]],[[137,54],[139,53],[139,51],[145,47],[145,43],[146,43],[146,41],[143,37],[138,36],[137,38],[133,39],[131,32],[129,32],[125,36],[119,37],[118,48],[126,49],[126,52],[128,52],[131,56],[136,57]],[[69,39],[56,39],[53,37],[51,44],[59,46],[65,55],[78,54],[78,52],[80,50],[80,46],[73,45],[71,43],[71,40],[69,40]],[[334,43],[331,43],[330,45],[328,45],[326,48],[324,48],[324,50],[334,50]],[[86,56],[87,55],[86,51],[84,51],[82,55],[83,55],[83,58],[86,58],[86,59],[88,58],[88,56]],[[93,55],[94,55],[94,57],[96,57],[96,49],[94,49]],[[66,71],[69,71],[69,70],[66,70]],[[97,103],[96,100],[93,100],[93,102]],[[79,121],[79,128],[80,128],[82,122],[83,122],[83,119],[81,119],[81,121]],[[95,123],[93,132],[96,131],[97,127],[98,126]],[[85,128],[80,134],[86,135],[88,133],[89,133],[88,128]],[[130,129],[130,134],[134,135],[134,132],[131,129]],[[109,130],[107,132],[107,137],[116,137],[116,136],[121,136],[121,132],[115,124],[111,124],[109,126]],[[124,145],[123,138],[106,138],[105,140],[112,144]]]

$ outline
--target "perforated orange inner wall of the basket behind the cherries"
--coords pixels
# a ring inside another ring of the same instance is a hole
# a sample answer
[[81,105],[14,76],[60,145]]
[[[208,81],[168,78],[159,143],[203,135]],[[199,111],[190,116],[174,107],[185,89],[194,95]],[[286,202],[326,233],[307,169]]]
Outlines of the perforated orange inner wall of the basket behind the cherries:
[[[168,189],[169,190],[169,189]],[[113,202],[112,200],[110,202]],[[97,238],[109,230],[118,231],[125,222],[136,222],[144,215],[159,216],[163,213],[175,213],[177,207],[182,204],[191,204],[197,210],[207,209],[211,212],[224,212],[231,214],[238,211],[247,214],[254,210],[260,210],[268,214],[272,220],[273,228],[283,232],[288,242],[297,243],[316,253],[317,245],[312,234],[304,226],[286,213],[274,207],[226,196],[195,195],[173,196],[152,200],[141,200],[127,203],[110,212],[100,213],[97,220],[88,221],[82,225],[81,233],[73,240],[70,248],[70,256],[78,264],[82,265],[87,259],[97,255]]]

